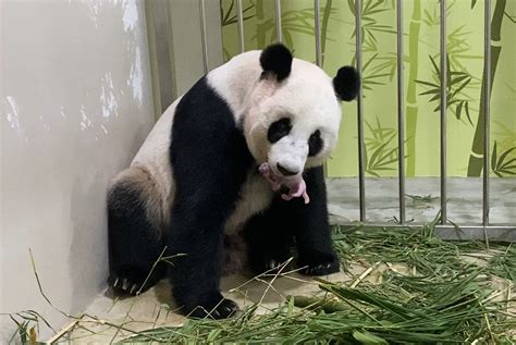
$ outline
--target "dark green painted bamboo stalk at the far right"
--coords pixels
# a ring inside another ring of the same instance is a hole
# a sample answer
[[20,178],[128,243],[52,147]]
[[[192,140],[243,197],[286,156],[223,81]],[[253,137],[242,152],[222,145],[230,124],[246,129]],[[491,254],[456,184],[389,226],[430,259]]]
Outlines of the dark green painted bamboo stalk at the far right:
[[[505,12],[506,0],[496,0],[494,7],[493,19],[491,20],[491,78],[490,84],[490,95],[488,101],[491,99],[491,94],[493,91],[493,81],[494,74],[496,72],[496,66],[499,64],[500,52],[502,51],[502,21]],[[486,78],[486,71],[482,74],[482,82]],[[480,107],[478,112],[477,127],[475,130],[474,141],[471,145],[471,153],[469,155],[468,162],[468,176],[478,177],[482,173],[483,164],[483,122],[484,122],[484,108],[482,107],[484,102],[484,83],[480,90]]]

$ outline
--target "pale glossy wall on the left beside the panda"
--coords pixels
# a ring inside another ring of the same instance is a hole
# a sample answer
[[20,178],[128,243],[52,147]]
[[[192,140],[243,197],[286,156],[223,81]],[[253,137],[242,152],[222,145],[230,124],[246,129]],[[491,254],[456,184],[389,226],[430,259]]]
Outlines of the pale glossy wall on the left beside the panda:
[[[143,2],[8,0],[0,13],[0,312],[59,329],[28,249],[65,311],[106,286],[106,187],[153,123]],[[13,330],[0,316],[0,343]]]

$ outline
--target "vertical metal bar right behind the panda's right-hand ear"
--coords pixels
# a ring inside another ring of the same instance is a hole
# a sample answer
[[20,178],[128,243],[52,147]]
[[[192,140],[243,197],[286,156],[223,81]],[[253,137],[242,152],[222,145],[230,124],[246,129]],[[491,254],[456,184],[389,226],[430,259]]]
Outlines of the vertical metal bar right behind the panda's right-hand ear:
[[[361,75],[361,0],[355,1],[355,38],[356,38],[356,63],[358,73]],[[357,122],[358,122],[358,194],[360,198],[360,221],[366,221],[366,172],[365,172],[365,147],[364,147],[364,111],[361,84],[357,96]]]

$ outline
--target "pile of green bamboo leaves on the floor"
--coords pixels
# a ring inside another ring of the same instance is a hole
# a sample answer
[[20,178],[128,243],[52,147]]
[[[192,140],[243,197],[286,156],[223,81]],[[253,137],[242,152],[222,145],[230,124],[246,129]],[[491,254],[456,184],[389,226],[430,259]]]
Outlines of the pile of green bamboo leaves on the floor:
[[[514,344],[515,248],[443,242],[433,226],[335,229],[343,263],[406,268],[384,270],[379,282],[319,280],[320,294],[290,296],[266,315],[256,315],[259,306],[253,305],[230,320],[188,320],[124,342]],[[495,281],[504,282],[503,287]]]

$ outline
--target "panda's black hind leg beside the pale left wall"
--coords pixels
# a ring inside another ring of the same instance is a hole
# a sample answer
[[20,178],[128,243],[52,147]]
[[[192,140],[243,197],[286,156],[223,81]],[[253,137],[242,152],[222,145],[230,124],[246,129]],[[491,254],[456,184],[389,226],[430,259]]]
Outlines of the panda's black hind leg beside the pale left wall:
[[158,260],[164,246],[152,180],[143,168],[124,171],[108,194],[110,275],[108,284],[118,295],[136,295],[152,287],[165,274]]

